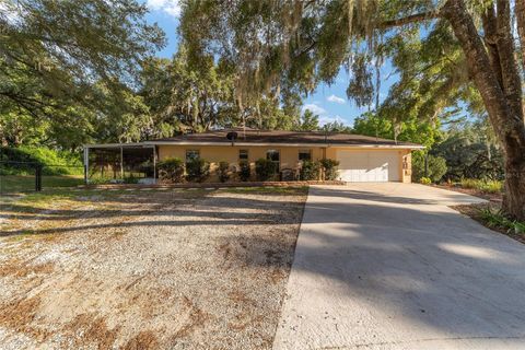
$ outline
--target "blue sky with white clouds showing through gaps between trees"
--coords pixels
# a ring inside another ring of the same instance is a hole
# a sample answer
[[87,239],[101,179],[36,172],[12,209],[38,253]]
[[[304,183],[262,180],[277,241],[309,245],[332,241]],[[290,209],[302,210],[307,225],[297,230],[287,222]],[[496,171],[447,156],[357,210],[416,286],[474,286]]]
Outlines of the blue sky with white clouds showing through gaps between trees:
[[[177,50],[178,16],[180,7],[177,0],[144,0],[150,13],[147,20],[158,25],[165,32],[167,45],[158,52],[160,57],[171,58]],[[396,74],[392,74],[392,66],[386,62],[381,69],[380,101],[383,100],[389,86],[396,81]],[[316,91],[303,101],[303,112],[311,109],[319,116],[319,124],[339,121],[352,126],[355,117],[366,112],[368,108],[359,108],[352,101],[347,98],[346,90],[349,77],[341,70],[331,85],[319,84]]]

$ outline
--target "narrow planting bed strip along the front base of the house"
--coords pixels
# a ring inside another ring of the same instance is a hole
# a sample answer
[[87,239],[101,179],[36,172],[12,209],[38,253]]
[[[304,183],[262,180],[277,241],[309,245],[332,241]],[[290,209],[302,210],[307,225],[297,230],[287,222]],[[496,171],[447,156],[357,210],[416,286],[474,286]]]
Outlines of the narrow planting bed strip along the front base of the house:
[[84,188],[226,188],[226,187],[304,187],[310,185],[346,185],[340,180],[299,180],[299,182],[249,182],[249,183],[186,183],[186,184],[102,184],[86,185]]

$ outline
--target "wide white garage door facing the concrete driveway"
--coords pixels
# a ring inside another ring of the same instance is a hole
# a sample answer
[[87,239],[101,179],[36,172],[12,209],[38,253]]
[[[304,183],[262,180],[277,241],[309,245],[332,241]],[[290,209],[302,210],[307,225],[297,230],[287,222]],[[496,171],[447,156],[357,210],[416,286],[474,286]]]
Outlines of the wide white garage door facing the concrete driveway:
[[351,183],[398,182],[397,151],[337,151],[339,176]]

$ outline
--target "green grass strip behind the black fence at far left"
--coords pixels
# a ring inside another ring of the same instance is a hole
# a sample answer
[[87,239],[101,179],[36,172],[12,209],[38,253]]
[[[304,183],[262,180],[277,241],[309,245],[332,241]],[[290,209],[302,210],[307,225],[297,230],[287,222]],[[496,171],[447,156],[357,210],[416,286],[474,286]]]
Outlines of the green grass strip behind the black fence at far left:
[[[43,188],[74,187],[82,185],[82,175],[43,175]],[[0,175],[0,192],[20,192],[35,190],[34,175]]]

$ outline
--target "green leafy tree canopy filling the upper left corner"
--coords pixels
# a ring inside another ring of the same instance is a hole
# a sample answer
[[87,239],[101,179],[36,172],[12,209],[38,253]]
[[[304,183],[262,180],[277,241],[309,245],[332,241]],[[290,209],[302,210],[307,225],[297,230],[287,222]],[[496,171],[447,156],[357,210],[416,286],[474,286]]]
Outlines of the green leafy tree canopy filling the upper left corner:
[[95,115],[105,116],[108,100],[127,104],[121,92],[137,85],[137,67],[164,45],[145,14],[135,0],[3,1],[2,141],[69,149],[88,141]]

